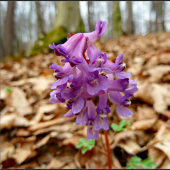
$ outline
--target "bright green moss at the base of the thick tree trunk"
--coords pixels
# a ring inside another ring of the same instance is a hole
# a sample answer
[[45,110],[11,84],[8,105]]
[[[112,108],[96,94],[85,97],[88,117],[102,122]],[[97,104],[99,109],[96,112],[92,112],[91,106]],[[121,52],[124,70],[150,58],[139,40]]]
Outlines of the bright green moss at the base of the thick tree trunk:
[[44,37],[39,37],[30,51],[30,56],[40,54],[43,50],[51,51],[49,48],[50,44],[62,44],[67,40],[66,38],[67,30],[60,26],[50,31]]

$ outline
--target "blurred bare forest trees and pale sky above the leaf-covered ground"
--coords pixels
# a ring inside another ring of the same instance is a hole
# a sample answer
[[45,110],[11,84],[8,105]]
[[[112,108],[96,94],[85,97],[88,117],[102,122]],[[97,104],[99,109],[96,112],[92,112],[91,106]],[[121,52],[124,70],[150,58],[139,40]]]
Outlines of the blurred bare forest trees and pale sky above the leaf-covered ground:
[[168,1],[1,1],[0,57],[29,55],[35,41],[59,25],[67,32],[80,31],[76,30],[79,18],[81,31],[85,32],[93,31],[98,19],[106,21],[108,28],[103,38],[107,40],[121,35],[170,31],[169,11]]

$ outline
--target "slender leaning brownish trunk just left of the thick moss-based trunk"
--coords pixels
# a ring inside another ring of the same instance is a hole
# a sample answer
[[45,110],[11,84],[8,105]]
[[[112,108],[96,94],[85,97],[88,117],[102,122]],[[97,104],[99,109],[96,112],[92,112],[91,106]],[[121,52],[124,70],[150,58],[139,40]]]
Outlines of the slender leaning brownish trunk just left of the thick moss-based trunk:
[[35,1],[36,5],[36,12],[37,12],[37,34],[38,36],[45,35],[44,30],[44,20],[43,20],[43,14],[42,14],[42,8],[41,8],[41,2]]

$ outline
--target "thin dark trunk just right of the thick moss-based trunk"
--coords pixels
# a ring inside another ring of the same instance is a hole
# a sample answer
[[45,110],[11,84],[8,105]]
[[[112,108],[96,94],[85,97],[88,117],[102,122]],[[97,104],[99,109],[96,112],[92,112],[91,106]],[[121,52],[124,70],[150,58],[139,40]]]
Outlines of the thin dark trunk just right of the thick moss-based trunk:
[[89,32],[94,31],[94,24],[93,24],[93,1],[88,1],[88,25],[89,25]]

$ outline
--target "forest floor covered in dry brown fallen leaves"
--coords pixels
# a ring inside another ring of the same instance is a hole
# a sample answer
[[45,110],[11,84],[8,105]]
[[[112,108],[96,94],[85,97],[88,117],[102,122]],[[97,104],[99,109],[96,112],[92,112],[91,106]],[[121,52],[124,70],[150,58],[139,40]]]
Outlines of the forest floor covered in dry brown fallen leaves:
[[[158,169],[170,169],[170,32],[122,36],[95,46],[111,61],[123,53],[125,71],[138,82],[129,107],[134,114],[120,117],[112,105],[108,115],[109,126],[131,122],[126,131],[108,131],[113,168],[126,168],[137,155],[152,158]],[[49,66],[60,59],[49,53],[1,63],[1,168],[108,168],[103,130],[95,147],[82,154],[75,146],[86,138],[86,126],[63,116],[64,103],[49,102],[55,81]]]

